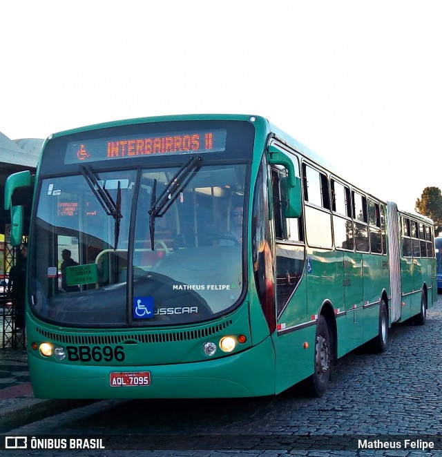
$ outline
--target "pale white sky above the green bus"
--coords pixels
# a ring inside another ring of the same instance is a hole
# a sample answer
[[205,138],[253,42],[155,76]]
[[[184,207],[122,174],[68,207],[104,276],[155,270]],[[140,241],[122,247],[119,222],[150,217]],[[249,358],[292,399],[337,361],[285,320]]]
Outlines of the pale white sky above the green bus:
[[0,132],[262,115],[381,200],[442,188],[439,0],[15,0]]

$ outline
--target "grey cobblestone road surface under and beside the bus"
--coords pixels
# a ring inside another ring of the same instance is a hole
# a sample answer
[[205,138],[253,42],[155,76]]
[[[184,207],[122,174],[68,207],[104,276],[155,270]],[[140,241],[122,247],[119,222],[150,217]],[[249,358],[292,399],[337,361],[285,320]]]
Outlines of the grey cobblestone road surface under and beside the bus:
[[[122,449],[35,450],[32,456],[440,456],[442,451],[403,447],[405,439],[428,441],[428,435],[442,449],[441,334],[442,297],[425,326],[394,326],[386,353],[358,350],[338,360],[322,398],[289,391],[240,400],[111,400],[8,435],[94,436],[119,440]],[[354,438],[398,441],[401,449],[343,450]],[[300,447],[296,439],[304,440]],[[140,449],[157,443],[162,450],[135,450],[133,443]]]

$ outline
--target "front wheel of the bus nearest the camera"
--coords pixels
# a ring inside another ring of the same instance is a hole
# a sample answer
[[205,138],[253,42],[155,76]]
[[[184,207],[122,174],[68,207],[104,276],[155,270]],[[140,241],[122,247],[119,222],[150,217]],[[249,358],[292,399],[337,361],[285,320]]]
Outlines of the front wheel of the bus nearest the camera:
[[329,385],[332,367],[332,344],[329,327],[323,315],[316,322],[314,373],[305,380],[305,391],[310,396],[320,397]]

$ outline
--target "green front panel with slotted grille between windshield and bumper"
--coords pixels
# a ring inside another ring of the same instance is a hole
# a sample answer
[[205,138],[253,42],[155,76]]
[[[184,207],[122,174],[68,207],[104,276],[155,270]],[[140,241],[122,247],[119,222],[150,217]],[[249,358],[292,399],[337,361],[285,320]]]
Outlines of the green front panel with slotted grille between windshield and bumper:
[[[76,347],[81,345],[92,348],[94,346],[103,347],[108,345],[106,338],[113,338],[116,342],[120,342],[115,344],[122,344],[124,361],[120,362],[120,368],[125,369],[126,365],[131,364],[157,365],[205,361],[208,358],[202,351],[204,342],[213,341],[218,346],[223,336],[246,336],[247,341],[244,344],[237,344],[231,355],[245,351],[251,347],[248,310],[248,304],[245,302],[230,315],[211,322],[188,325],[184,329],[177,327],[150,330],[136,329],[136,331],[133,328],[126,330],[106,329],[104,331],[99,331],[98,329],[88,329],[87,331],[84,329],[61,329],[49,324],[40,324],[28,312],[26,329],[29,344],[32,342],[37,344],[48,342],[62,347],[68,344]],[[46,330],[43,331],[43,328]],[[136,335],[139,335],[140,338],[137,338]],[[267,336],[269,336],[268,328]],[[125,344],[124,342],[126,341],[129,343]],[[39,354],[38,356],[45,360],[43,356]],[[213,358],[225,358],[227,356],[228,354],[222,352],[218,347],[218,351]],[[87,360],[87,362],[94,361]],[[59,363],[83,365],[84,360],[68,360],[66,358],[59,361]],[[98,360],[97,364],[106,365],[108,363],[102,359]]]

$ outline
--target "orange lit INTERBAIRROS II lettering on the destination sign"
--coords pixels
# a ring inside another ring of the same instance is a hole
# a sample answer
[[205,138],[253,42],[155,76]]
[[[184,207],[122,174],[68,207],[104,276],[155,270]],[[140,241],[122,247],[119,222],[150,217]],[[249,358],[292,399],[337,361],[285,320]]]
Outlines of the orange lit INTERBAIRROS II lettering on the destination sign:
[[[163,153],[191,153],[200,149],[202,144],[200,135],[175,135],[174,137],[155,137],[145,139],[119,140],[108,142],[108,157],[126,157],[128,155],[149,155]],[[204,135],[204,149],[213,148],[213,135]]]

